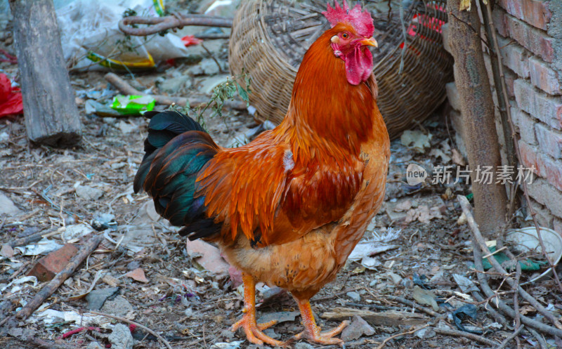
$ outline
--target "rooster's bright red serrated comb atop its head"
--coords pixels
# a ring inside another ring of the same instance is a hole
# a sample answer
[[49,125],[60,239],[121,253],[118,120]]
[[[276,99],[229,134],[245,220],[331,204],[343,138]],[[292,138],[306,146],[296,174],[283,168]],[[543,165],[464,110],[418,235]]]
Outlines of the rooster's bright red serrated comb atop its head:
[[344,0],[343,6],[339,6],[338,0],[334,0],[334,8],[328,4],[328,11],[322,12],[322,15],[326,16],[332,27],[339,22],[348,22],[353,26],[355,32],[363,37],[372,37],[374,33],[373,18],[369,11],[361,11],[360,4],[350,10],[346,0]]

